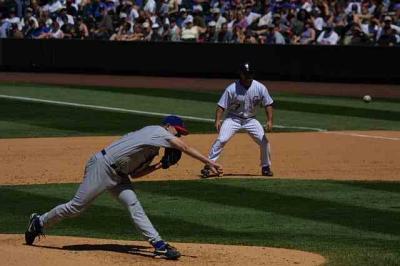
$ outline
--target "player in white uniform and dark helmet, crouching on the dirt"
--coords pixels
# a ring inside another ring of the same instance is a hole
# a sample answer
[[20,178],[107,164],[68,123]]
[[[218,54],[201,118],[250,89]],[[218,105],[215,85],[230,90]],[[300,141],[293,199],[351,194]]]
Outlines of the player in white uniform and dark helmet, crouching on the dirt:
[[[273,100],[267,88],[253,79],[253,74],[254,72],[249,63],[242,64],[239,69],[240,79],[230,84],[222,94],[215,114],[215,128],[219,135],[210,149],[208,158],[214,162],[217,161],[225,144],[240,129],[244,129],[260,146],[261,174],[273,176],[270,144],[263,126],[255,118],[256,108],[262,105],[267,114],[266,130],[271,131]],[[221,124],[225,111],[227,111],[227,115]],[[206,165],[201,170],[201,176],[207,178],[210,174],[211,171]]]

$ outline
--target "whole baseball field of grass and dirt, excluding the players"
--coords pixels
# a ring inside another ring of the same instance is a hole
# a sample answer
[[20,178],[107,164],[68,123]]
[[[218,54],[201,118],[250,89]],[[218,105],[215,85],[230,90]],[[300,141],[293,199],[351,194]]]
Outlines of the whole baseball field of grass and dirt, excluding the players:
[[[328,96],[337,93],[266,83],[275,100],[272,178],[260,176],[258,146],[240,133],[220,159],[223,177],[200,179],[201,163],[183,156],[134,180],[155,227],[182,251],[179,261],[153,258],[107,193],[24,245],[30,213],[68,201],[90,155],[122,134],[177,114],[191,131],[184,140],[208,152],[224,87],[175,82],[0,83],[1,265],[400,265],[400,98],[365,103],[362,85]],[[261,109],[258,119],[265,123]]]

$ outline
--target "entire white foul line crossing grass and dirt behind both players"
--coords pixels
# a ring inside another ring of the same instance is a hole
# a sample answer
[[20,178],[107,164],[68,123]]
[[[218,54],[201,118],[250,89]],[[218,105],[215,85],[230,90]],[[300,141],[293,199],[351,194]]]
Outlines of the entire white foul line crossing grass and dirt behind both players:
[[[165,117],[166,115],[170,115],[168,113],[139,111],[139,110],[131,110],[131,109],[125,109],[125,108],[73,103],[73,102],[63,102],[63,101],[54,101],[54,100],[45,100],[45,99],[39,99],[39,98],[11,96],[11,95],[4,95],[4,94],[0,94],[0,98],[27,101],[27,102],[48,103],[48,104],[62,105],[62,106],[88,108],[88,109],[94,109],[94,110],[105,110],[105,111],[115,111],[115,112],[121,112],[121,113],[140,114],[140,115],[148,115],[148,116],[156,116],[156,117]],[[186,115],[179,115],[179,116],[181,118],[189,120],[189,121],[214,122],[214,119],[210,119],[210,118],[201,118],[201,117],[186,116]],[[274,127],[275,128],[303,129],[303,130],[317,131],[317,132],[322,132],[322,133],[327,133],[327,134],[337,134],[337,135],[345,135],[345,136],[360,137],[360,138],[384,139],[384,140],[395,140],[395,141],[400,140],[400,138],[394,138],[394,137],[363,135],[363,134],[347,133],[347,132],[335,132],[335,131],[328,131],[327,129],[315,128],[315,127],[284,126],[284,125],[274,125]]]

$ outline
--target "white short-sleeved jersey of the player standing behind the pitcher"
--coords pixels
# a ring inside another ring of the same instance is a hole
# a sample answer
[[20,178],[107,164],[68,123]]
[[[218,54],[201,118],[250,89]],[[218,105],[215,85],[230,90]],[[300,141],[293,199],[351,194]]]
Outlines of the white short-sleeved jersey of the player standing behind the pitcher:
[[271,105],[273,100],[267,88],[253,80],[246,89],[239,81],[229,85],[221,96],[218,105],[228,110],[228,117],[251,118],[256,115],[256,107]]

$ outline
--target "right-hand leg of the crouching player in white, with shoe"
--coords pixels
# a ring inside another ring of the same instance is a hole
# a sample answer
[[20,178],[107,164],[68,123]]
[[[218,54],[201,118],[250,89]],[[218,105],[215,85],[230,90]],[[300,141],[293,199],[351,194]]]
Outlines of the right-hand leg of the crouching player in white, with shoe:
[[271,171],[271,147],[264,128],[257,119],[249,119],[243,128],[249,133],[252,139],[260,146],[260,165],[262,174],[272,176]]

